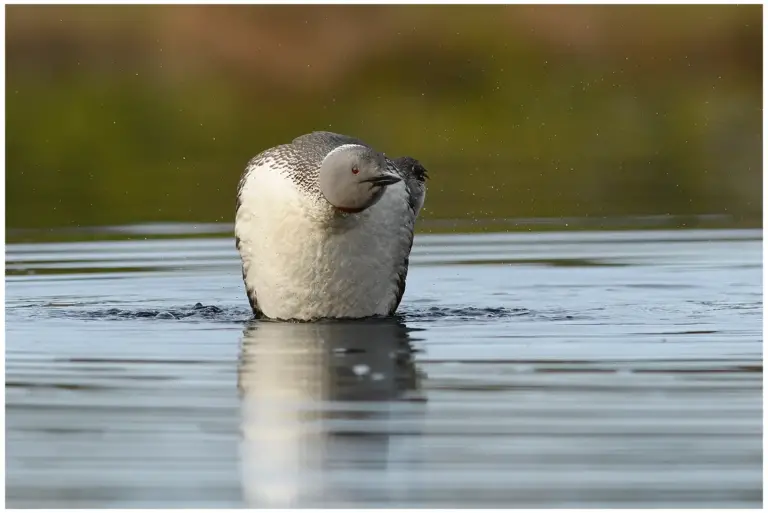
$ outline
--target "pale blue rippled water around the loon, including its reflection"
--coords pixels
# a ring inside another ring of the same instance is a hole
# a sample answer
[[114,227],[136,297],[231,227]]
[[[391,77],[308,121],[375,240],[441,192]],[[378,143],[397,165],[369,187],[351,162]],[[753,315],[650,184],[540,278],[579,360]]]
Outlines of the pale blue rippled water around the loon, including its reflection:
[[761,246],[424,235],[398,319],[290,324],[229,238],[10,244],[7,505],[759,507]]

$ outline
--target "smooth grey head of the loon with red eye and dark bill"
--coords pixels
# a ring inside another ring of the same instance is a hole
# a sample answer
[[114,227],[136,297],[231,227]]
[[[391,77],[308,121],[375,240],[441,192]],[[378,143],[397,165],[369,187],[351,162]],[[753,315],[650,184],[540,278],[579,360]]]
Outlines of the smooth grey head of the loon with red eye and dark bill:
[[388,169],[387,159],[372,148],[344,144],[330,151],[320,166],[318,182],[323,197],[338,210],[362,212],[403,178]]

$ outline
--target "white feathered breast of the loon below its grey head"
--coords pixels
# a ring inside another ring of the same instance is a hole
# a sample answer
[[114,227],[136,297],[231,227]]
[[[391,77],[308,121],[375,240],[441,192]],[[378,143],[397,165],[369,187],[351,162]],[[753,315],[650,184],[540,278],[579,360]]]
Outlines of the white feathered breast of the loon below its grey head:
[[246,289],[270,318],[388,315],[413,219],[400,182],[373,207],[340,215],[267,161],[240,193],[235,221]]

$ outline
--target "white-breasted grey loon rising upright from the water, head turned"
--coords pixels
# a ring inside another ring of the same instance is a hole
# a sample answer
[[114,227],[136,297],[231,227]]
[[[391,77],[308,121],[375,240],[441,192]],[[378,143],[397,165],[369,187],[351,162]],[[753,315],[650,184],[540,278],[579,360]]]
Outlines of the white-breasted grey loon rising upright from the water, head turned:
[[413,157],[328,131],[253,157],[237,188],[235,245],[254,315],[394,315],[427,178]]

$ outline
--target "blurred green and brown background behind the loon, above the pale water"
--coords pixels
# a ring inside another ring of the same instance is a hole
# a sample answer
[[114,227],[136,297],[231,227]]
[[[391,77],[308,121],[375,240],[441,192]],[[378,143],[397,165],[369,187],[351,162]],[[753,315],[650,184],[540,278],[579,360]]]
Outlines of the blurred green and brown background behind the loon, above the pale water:
[[762,6],[6,7],[8,228],[231,223],[312,130],[419,158],[446,226],[760,226]]

